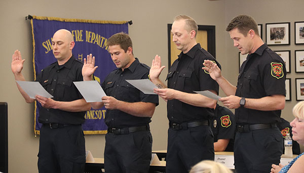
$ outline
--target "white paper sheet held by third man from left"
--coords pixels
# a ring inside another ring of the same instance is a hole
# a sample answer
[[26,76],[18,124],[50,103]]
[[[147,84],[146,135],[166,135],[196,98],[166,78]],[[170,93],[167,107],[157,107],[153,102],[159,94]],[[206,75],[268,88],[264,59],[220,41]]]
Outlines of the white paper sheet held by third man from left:
[[137,80],[126,80],[132,84],[135,88],[140,90],[144,94],[155,94],[153,89],[157,89],[157,86],[149,79],[137,79]]

